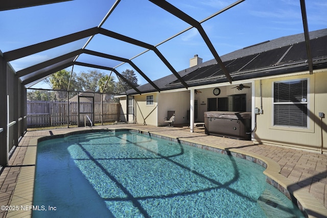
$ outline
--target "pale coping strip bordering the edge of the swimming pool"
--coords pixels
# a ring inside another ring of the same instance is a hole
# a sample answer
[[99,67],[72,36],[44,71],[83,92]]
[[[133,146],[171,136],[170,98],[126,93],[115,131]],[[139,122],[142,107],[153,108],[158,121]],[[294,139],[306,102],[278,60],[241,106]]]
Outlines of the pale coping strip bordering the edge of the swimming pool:
[[[209,143],[203,143],[195,141],[188,138],[180,139],[169,134],[163,134],[159,131],[147,131],[140,128],[101,128],[101,129],[86,129],[86,130],[76,130],[68,133],[51,135],[51,136],[36,136],[29,141],[29,145],[26,151],[25,159],[22,165],[28,167],[22,167],[16,187],[13,193],[10,206],[17,205],[32,205],[33,203],[33,188],[34,188],[34,173],[36,164],[36,148],[37,143],[43,140],[52,138],[62,138],[69,135],[89,133],[89,132],[101,132],[101,131],[135,131],[142,134],[147,134],[150,136],[155,136],[159,138],[165,138],[168,140],[176,140],[190,146],[197,148],[214,151],[217,153],[232,155],[235,157],[243,158],[254,163],[260,164],[265,167],[264,174],[266,175],[266,182],[281,191],[286,197],[288,197],[298,208],[303,212],[306,217],[327,217],[327,208],[325,208],[315,197],[313,197],[307,190],[301,188],[296,183],[292,182],[290,179],[284,177],[279,172],[281,172],[281,167],[274,160],[261,156],[258,154],[240,151],[237,148],[226,149],[219,145],[213,145]],[[29,188],[27,188],[29,187]],[[7,217],[15,216],[31,216],[32,209],[27,208],[26,210],[10,210],[7,213]]]

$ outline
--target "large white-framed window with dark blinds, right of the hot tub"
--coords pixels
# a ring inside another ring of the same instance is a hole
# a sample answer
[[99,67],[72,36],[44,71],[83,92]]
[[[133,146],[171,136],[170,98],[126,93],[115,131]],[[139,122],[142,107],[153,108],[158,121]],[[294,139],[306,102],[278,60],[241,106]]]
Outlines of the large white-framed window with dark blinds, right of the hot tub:
[[273,83],[273,126],[308,128],[308,80]]

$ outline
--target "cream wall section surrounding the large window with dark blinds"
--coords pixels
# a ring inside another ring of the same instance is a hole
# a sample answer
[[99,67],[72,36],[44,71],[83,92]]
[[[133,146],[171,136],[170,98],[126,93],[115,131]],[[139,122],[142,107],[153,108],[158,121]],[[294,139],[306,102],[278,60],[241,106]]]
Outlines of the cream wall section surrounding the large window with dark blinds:
[[[297,75],[263,79],[255,81],[255,107],[261,108],[263,114],[256,115],[256,131],[254,140],[265,143],[282,144],[285,146],[320,150],[321,144],[327,139],[326,119],[318,116],[319,112],[327,112],[327,71],[315,72],[313,75]],[[309,78],[308,95],[308,128],[273,126],[273,82]],[[260,95],[262,83],[262,99]],[[324,146],[327,151],[327,146]]]

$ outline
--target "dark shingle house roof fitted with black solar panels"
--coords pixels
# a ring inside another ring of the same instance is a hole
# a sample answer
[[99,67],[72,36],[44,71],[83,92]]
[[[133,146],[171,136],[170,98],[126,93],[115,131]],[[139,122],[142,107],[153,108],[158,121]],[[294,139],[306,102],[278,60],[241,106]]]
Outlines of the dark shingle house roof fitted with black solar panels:
[[[310,45],[314,68],[326,67],[327,29],[310,32]],[[234,81],[308,69],[303,33],[244,47],[221,56],[221,59]],[[189,86],[227,81],[215,59],[181,70],[178,74]],[[161,90],[183,87],[174,75],[160,78],[154,83]],[[155,91],[150,84],[138,86],[137,89],[141,92]],[[135,94],[135,91],[131,89],[127,93]]]

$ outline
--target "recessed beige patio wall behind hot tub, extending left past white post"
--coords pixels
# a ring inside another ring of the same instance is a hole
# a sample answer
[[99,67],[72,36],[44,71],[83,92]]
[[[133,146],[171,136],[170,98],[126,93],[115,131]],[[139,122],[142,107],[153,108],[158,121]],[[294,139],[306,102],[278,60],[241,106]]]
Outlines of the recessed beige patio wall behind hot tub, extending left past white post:
[[[247,84],[251,85],[251,84]],[[237,90],[235,85],[220,87],[221,93],[216,96],[213,94],[213,88],[201,89],[201,93],[195,95],[195,100],[198,101],[198,118],[195,122],[204,122],[204,112],[207,111],[208,98],[226,98],[235,94],[247,95],[247,109],[251,111],[251,89]],[[148,95],[153,95],[154,105],[147,105],[146,98]],[[126,97],[120,98],[121,103],[121,121],[126,122]],[[135,123],[146,124],[153,126],[167,126],[164,118],[167,117],[168,111],[175,111],[175,124],[190,123],[190,91],[173,91],[165,93],[148,93],[142,95],[134,95],[134,113]],[[129,123],[132,123],[133,117],[129,116]]]

